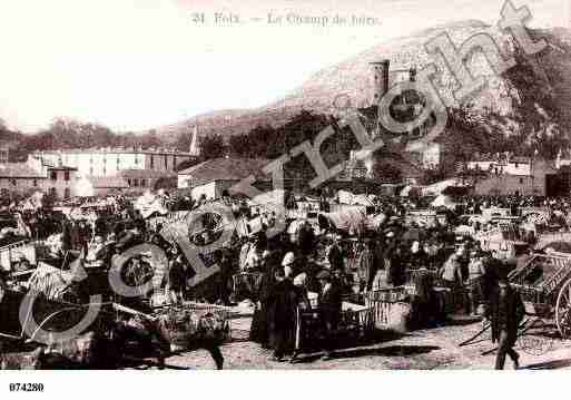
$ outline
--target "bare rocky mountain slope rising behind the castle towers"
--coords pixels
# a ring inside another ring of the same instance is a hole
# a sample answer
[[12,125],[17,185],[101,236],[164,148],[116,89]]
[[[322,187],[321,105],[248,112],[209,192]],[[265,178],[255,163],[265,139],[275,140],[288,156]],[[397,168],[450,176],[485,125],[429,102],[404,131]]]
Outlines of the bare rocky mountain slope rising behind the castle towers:
[[[444,31],[456,46],[475,33],[485,32],[496,39],[502,51],[514,53],[511,36],[500,32],[496,27],[474,20],[447,23],[384,41],[325,68],[284,98],[266,107],[210,113],[158,128],[157,131],[166,137],[174,137],[180,131],[187,131],[188,126],[198,120],[201,135],[240,134],[256,125],[283,125],[301,109],[333,113],[333,101],[342,94],[348,95],[357,107],[368,106],[372,88],[368,66],[371,61],[390,59],[393,72],[408,70],[411,67],[422,69],[432,62],[424,50],[424,43]],[[534,31],[534,36],[544,38],[550,43],[539,56],[535,66],[528,65],[529,60],[523,59],[523,66],[498,77],[480,52],[475,52],[467,64],[473,75],[485,76],[489,84],[485,90],[471,99],[476,118],[490,131],[526,135],[528,142],[536,140],[538,135],[568,135],[571,131],[571,33],[568,29],[554,28]],[[441,90],[451,92],[456,82],[445,71],[440,77],[440,86]],[[547,126],[551,128],[545,128]]]

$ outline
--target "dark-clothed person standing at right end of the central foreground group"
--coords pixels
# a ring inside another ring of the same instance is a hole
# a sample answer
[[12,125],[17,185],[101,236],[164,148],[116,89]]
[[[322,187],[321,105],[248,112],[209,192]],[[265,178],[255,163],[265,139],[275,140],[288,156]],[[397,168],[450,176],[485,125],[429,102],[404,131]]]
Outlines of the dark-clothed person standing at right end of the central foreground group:
[[332,279],[328,271],[322,271],[317,274],[317,280],[322,285],[318,297],[318,304],[322,316],[322,328],[324,330],[324,360],[329,360],[335,349],[335,333],[341,318],[343,293],[342,287],[336,280]]

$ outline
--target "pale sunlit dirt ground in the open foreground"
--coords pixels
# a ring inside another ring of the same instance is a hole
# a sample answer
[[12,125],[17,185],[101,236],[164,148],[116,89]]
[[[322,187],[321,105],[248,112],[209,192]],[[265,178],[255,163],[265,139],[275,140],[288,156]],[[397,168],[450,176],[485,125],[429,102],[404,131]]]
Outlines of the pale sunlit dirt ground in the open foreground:
[[[342,370],[463,370],[493,369],[495,353],[483,354],[494,348],[490,331],[485,331],[472,344],[459,344],[476,334],[482,322],[455,316],[446,326],[420,330],[405,334],[377,331],[374,338],[353,347],[338,349],[333,360],[322,361],[322,353],[301,354],[294,362],[270,361],[272,353],[257,343],[248,341],[252,320],[240,318],[232,321],[232,341],[221,348],[225,369],[342,369]],[[545,323],[545,325],[541,325]],[[536,328],[520,338],[515,350],[520,353],[522,369],[541,370],[571,367],[571,340],[562,340],[549,322],[539,322]],[[214,362],[204,350],[193,351],[167,360],[169,369],[208,370]],[[144,368],[144,367],[142,367]],[[506,369],[512,369],[508,359]]]

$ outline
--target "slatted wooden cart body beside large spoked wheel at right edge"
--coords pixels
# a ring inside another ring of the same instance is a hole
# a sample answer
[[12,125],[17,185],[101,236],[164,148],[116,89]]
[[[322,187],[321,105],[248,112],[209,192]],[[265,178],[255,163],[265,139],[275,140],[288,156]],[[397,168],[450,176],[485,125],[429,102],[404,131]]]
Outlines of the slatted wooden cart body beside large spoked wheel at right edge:
[[535,254],[509,280],[521,294],[526,313],[553,319],[561,336],[571,336],[571,254]]

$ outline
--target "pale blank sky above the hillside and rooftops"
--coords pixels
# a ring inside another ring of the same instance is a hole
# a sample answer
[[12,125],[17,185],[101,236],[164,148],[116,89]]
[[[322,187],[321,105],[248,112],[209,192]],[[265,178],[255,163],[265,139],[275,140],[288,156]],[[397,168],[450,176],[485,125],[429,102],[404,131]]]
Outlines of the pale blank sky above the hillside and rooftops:
[[[446,21],[495,23],[503,0],[1,0],[0,117],[33,131],[55,117],[141,130],[258,107],[384,39]],[[570,0],[518,0],[530,26],[570,26]],[[193,21],[204,12],[206,25]],[[215,26],[214,13],[239,26]],[[267,23],[352,14],[373,26]],[[259,21],[252,20],[260,18]]]

